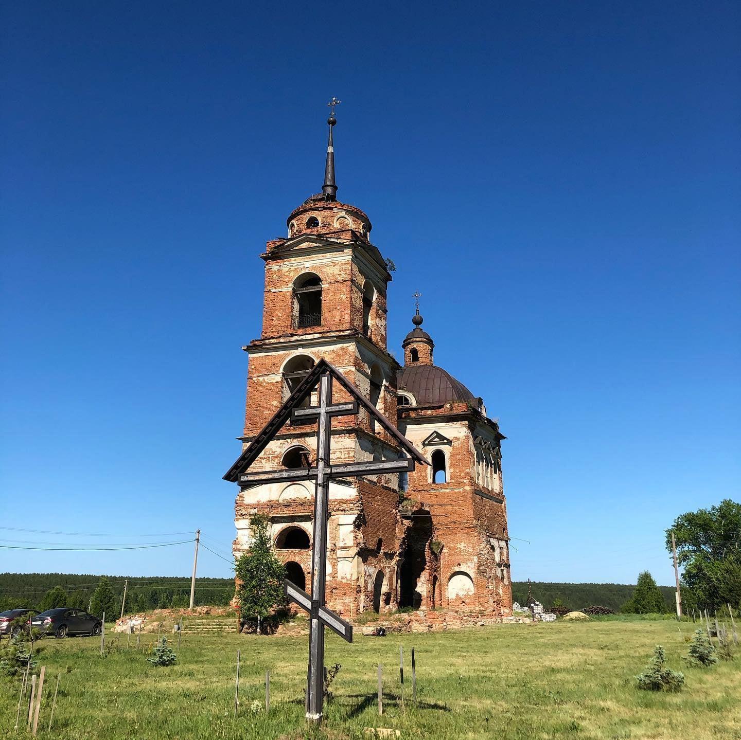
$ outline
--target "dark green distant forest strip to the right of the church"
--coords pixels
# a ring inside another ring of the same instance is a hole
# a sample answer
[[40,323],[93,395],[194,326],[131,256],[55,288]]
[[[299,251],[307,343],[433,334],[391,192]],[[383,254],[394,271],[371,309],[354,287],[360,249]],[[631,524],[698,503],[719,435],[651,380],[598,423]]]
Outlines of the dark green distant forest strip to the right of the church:
[[[633,598],[634,585],[619,583],[531,583],[533,598],[546,608],[563,604],[571,610],[584,607],[609,607],[614,611],[627,604]],[[674,610],[674,588],[659,586],[659,591],[666,602],[666,610]],[[512,599],[519,604],[528,600],[528,584],[512,581]]]

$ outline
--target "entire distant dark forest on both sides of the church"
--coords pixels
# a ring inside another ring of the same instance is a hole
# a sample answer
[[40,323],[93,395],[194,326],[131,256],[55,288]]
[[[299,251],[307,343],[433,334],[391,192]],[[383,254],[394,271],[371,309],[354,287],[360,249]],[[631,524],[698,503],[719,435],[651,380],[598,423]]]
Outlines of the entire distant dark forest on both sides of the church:
[[[126,612],[187,607],[190,602],[190,578],[187,576],[106,576],[116,596],[116,613],[121,611],[124,584]],[[0,611],[15,607],[38,608],[44,596],[62,587],[67,596],[64,606],[86,609],[102,576],[72,573],[0,573]],[[546,608],[554,602],[570,609],[599,605],[615,611],[633,596],[635,586],[614,583],[531,583],[532,594]],[[667,610],[674,609],[674,587],[659,586]],[[233,579],[196,579],[196,606],[226,606],[234,596]],[[524,604],[528,584],[513,581],[512,598]]]

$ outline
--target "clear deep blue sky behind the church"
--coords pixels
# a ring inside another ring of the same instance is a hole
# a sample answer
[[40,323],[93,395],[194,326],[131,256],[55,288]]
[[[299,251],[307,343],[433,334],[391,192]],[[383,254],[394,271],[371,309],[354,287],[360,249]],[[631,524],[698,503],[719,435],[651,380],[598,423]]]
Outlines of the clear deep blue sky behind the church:
[[[201,527],[229,550],[258,255],[322,184],[336,95],[339,199],[397,267],[391,349],[419,290],[436,363],[508,436],[514,579],[670,584],[662,530],[739,497],[740,21],[731,2],[5,7],[0,544]],[[0,549],[0,571],[191,559]]]

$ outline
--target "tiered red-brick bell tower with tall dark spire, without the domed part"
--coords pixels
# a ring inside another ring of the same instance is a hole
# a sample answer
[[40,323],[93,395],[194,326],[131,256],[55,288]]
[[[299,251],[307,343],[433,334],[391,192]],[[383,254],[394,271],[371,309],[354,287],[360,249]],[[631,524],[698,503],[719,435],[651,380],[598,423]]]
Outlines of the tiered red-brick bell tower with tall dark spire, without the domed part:
[[[358,207],[336,199],[333,131],[338,103],[330,101],[321,192],[290,213],[286,219],[288,235],[268,241],[260,255],[265,262],[262,332],[243,347],[249,355],[241,438],[245,445],[319,359],[333,364],[396,424],[399,364],[386,348],[386,291],[391,274],[370,241],[371,220]],[[306,466],[315,459],[315,447],[313,425],[285,427],[265,448],[253,470]],[[376,428],[376,420],[363,408],[355,416],[333,423],[337,461],[396,459],[400,453],[396,441],[380,426]],[[240,490],[235,509],[235,554],[249,544],[250,517],[264,513],[270,520],[276,553],[293,569],[294,582],[300,585],[299,571],[308,582],[312,496],[302,484],[271,483]],[[367,606],[364,567],[374,558],[391,562],[391,553],[396,552],[396,520],[381,521],[363,513],[368,506],[392,510],[397,500],[395,474],[331,484],[331,608],[351,613]]]

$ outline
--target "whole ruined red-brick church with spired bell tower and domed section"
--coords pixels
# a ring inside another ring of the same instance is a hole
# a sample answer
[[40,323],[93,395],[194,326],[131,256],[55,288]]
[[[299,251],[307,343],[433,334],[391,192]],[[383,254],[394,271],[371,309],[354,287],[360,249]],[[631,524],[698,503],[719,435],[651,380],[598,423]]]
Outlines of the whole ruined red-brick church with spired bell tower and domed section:
[[[501,441],[482,399],[433,364],[419,306],[403,341],[403,367],[388,352],[391,274],[371,242],[371,221],[336,199],[332,115],[322,192],[288,216],[288,236],[268,241],[262,333],[249,354],[247,444],[324,358],[356,385],[425,456],[408,474],[330,483],[327,604],[346,618],[365,611],[442,608],[511,615]],[[469,358],[468,360],[473,360]],[[333,462],[388,460],[396,441],[362,407],[332,430]],[[286,425],[253,470],[302,467],[316,453],[316,424]],[[238,470],[225,479],[236,481]],[[239,556],[250,517],[265,514],[288,577],[310,587],[313,483],[260,484],[236,498]]]

